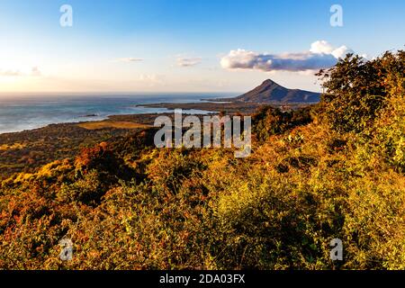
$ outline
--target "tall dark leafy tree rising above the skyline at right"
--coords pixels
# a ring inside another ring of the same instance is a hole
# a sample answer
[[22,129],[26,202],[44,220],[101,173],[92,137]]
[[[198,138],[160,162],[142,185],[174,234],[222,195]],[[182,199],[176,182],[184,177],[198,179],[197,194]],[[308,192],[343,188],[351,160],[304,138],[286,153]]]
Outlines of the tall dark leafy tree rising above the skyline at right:
[[386,104],[395,79],[405,76],[405,51],[390,51],[380,58],[348,54],[335,67],[320,70],[326,119],[339,132],[360,132],[370,127]]

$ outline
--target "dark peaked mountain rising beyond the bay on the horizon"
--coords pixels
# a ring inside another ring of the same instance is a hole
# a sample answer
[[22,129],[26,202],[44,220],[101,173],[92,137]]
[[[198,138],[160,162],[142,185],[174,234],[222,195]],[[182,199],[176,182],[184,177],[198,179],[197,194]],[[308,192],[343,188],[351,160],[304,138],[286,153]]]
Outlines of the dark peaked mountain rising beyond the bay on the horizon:
[[[252,91],[230,99],[233,102],[253,103],[317,103],[320,102],[320,93],[300,89],[288,89],[267,79],[262,85]],[[228,99],[229,101],[229,99]]]

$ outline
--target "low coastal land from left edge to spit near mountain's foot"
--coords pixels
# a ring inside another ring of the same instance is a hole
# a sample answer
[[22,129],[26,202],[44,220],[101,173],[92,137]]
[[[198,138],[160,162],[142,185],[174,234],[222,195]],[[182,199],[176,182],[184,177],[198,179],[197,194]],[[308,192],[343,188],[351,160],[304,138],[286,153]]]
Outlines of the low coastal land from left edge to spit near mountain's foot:
[[[194,115],[221,112],[223,103],[153,103],[150,108],[166,108],[166,112],[109,115],[103,120],[76,121],[48,124],[40,128],[0,133],[0,180],[16,173],[32,173],[40,166],[54,161],[74,158],[82,148],[129,136],[152,129],[157,116],[174,117],[172,108],[184,109]],[[141,104],[140,106],[147,106]],[[166,107],[164,107],[166,106]],[[209,107],[208,107],[209,106]],[[230,114],[253,112],[258,104],[229,106]],[[226,107],[225,107],[226,108]],[[153,110],[153,109],[152,109]],[[204,113],[196,113],[203,111]]]

